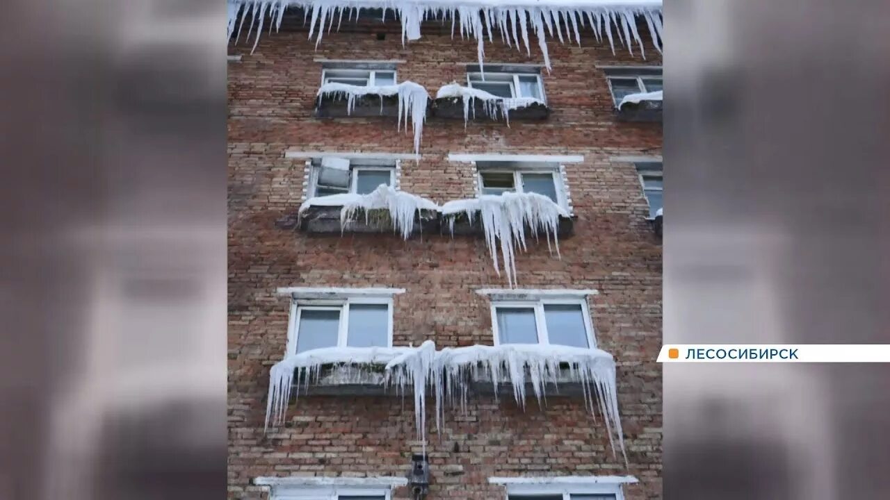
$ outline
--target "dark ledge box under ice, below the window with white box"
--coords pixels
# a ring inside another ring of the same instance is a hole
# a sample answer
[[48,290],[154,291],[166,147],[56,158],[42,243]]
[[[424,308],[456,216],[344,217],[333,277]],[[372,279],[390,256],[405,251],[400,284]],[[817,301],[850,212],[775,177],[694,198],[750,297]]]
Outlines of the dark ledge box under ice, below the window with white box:
[[[365,222],[363,214],[359,214],[355,221],[349,222],[345,228],[340,225],[340,211],[342,206],[310,206],[299,218],[297,228],[310,234],[336,234],[350,233],[387,233],[392,232],[392,222],[389,214],[382,218],[371,217]],[[429,210],[423,210],[420,216],[415,217],[412,235],[419,233],[435,234],[439,232],[439,214]]]

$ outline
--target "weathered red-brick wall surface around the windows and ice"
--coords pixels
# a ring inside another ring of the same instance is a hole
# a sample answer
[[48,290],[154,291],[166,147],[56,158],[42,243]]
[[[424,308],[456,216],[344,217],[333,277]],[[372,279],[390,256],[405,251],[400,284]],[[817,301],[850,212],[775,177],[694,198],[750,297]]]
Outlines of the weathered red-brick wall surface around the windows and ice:
[[[297,23],[298,25],[299,23]],[[247,28],[245,28],[247,29]],[[489,301],[473,293],[505,287],[480,238],[425,235],[308,236],[283,229],[303,196],[303,159],[286,149],[410,153],[410,133],[394,119],[312,117],[320,85],[316,58],[405,60],[399,80],[435,90],[463,81],[476,61],[475,42],[452,40],[433,27],[405,47],[398,26],[326,34],[318,48],[299,28],[232,45],[242,54],[229,64],[229,497],[265,498],[257,476],[395,475],[419,452],[413,401],[384,397],[301,398],[287,425],[263,434],[269,368],[287,341],[288,299],[278,286],[392,286],[394,343],[437,346],[492,343]],[[402,162],[401,189],[443,203],[473,197],[473,174],[449,152],[583,155],[565,164],[577,215],[575,234],[560,241],[562,258],[532,244],[516,259],[519,286],[596,288],[588,300],[599,347],[618,364],[619,406],[626,434],[626,470],[611,456],[603,420],[594,423],[580,398],[551,397],[545,409],[530,401],[523,412],[512,397],[496,403],[476,396],[465,415],[447,410],[441,434],[428,418],[432,486],[429,500],[500,498],[490,476],[631,474],[628,499],[661,496],[661,375],[654,362],[661,343],[661,248],[627,156],[660,155],[659,124],[616,121],[601,69],[595,65],[659,65],[587,34],[577,44],[549,40],[553,72],[543,73],[546,121],[471,122],[430,118],[421,160]],[[542,62],[502,44],[486,43],[486,61]],[[430,412],[432,416],[432,411]],[[397,489],[393,498],[408,498]]]

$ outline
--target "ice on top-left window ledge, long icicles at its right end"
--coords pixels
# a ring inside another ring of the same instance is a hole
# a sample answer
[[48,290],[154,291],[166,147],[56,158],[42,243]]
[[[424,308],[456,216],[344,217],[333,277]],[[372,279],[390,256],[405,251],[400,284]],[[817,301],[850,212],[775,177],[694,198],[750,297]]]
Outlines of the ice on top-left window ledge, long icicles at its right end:
[[319,88],[319,99],[325,96],[345,97],[346,113],[352,113],[355,106],[355,100],[366,95],[380,96],[380,106],[383,107],[384,96],[398,96],[399,98],[399,123],[404,119],[405,129],[408,130],[408,120],[411,120],[411,126],[414,129],[414,154],[420,154],[420,136],[424,131],[424,122],[426,121],[426,102],[429,101],[429,94],[422,85],[414,82],[402,82],[399,85],[347,85],[328,83],[321,85]]

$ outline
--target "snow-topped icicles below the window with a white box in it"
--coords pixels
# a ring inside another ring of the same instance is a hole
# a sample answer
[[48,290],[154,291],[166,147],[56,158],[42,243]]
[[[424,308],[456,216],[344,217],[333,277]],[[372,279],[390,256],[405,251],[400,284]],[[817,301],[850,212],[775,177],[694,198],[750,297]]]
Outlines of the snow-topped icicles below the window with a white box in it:
[[369,211],[387,210],[392,220],[392,229],[399,232],[404,239],[408,239],[411,236],[411,231],[414,230],[415,214],[419,214],[421,210],[439,211],[439,206],[432,201],[396,190],[385,184],[377,186],[376,190],[367,195],[343,193],[309,198],[300,206],[298,214],[303,215],[310,206],[342,206],[343,208],[340,209],[341,230],[345,230],[351,222],[355,221],[360,210],[365,213],[366,223],[369,222]]

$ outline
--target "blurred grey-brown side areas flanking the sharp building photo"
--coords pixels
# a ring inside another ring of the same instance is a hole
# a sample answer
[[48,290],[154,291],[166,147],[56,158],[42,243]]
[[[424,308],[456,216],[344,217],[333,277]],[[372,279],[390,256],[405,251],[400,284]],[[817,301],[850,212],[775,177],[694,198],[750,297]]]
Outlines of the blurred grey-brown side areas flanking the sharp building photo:
[[[0,499],[223,498],[223,0],[12,0]],[[665,0],[666,343],[890,342],[890,4]],[[665,367],[664,498],[890,496],[890,367]]]

